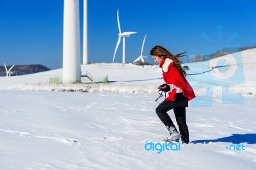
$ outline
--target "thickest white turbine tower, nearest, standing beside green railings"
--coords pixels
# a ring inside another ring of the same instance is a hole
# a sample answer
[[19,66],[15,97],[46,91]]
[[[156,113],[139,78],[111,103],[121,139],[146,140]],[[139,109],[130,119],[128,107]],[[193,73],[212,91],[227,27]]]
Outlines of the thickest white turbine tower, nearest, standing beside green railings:
[[79,0],[64,0],[63,83],[81,81]]

